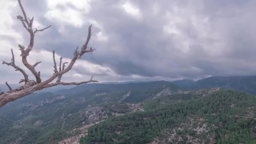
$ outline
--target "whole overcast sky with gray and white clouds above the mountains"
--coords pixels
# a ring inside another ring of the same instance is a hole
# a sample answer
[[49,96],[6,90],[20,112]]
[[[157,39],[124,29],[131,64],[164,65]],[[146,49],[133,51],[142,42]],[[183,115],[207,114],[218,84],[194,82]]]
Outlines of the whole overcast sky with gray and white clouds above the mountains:
[[[65,81],[198,80],[256,74],[256,0],[22,0],[35,36],[28,61],[45,80],[53,74],[52,50],[70,61],[93,24],[90,47]],[[22,66],[18,44],[28,32],[16,19],[16,0],[0,0],[0,59]],[[25,69],[25,68],[24,68]],[[29,73],[29,78],[33,75]],[[0,83],[22,75],[0,65]]]

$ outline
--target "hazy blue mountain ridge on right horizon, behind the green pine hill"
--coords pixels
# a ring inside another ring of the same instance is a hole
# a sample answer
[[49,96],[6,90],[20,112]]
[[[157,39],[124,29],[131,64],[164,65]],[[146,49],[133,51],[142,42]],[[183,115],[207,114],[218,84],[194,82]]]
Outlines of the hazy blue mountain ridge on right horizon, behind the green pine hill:
[[256,76],[208,77],[202,80],[177,80],[171,82],[181,88],[231,88],[256,94]]

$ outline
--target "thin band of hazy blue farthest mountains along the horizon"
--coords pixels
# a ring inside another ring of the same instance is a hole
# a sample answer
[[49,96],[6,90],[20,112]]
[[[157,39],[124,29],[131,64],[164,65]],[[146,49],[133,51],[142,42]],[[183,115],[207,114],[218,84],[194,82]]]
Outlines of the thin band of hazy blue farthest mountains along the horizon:
[[[132,84],[134,83],[134,84]],[[191,89],[202,89],[202,88],[227,88],[227,89],[236,89],[240,91],[245,91],[248,93],[256,94],[256,76],[230,76],[230,77],[208,77],[202,80],[193,81],[193,80],[176,80],[173,82],[167,81],[155,81],[155,82],[142,82],[144,85],[150,85],[150,83],[155,83],[156,85],[170,85],[174,84],[179,88],[191,90]],[[120,89],[120,88],[130,88],[135,89],[141,88],[141,82],[130,81],[123,83],[99,83],[99,84],[85,84],[79,85],[74,88],[63,89],[57,91],[58,94],[64,93],[80,93],[83,91],[89,91],[94,88],[104,88],[104,89]]]

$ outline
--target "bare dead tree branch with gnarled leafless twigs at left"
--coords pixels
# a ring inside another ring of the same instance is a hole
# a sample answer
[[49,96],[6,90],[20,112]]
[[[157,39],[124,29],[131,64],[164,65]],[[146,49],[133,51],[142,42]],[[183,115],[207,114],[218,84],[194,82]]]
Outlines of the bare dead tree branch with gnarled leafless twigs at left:
[[[25,67],[27,67],[27,69],[29,69],[32,72],[32,74],[35,77],[35,80],[30,80],[28,75],[26,74],[26,72],[21,67],[18,67],[15,64],[13,50],[11,49],[11,54],[12,54],[11,62],[8,63],[8,62],[3,61],[3,64],[7,64],[8,66],[13,67],[16,71],[20,71],[23,74],[24,79],[22,78],[19,83],[24,83],[24,85],[22,85],[19,88],[12,89],[11,86],[8,85],[8,83],[6,82],[5,84],[8,86],[9,91],[7,93],[0,91],[0,107],[3,107],[5,104],[7,104],[10,101],[14,101],[23,96],[27,96],[27,95],[33,93],[34,91],[38,91],[43,88],[49,88],[49,87],[53,87],[55,85],[81,85],[84,83],[98,82],[96,80],[93,80],[93,76],[88,81],[82,81],[82,82],[78,82],[78,83],[76,83],[76,82],[71,82],[71,83],[61,82],[62,75],[64,75],[65,73],[69,72],[70,69],[72,69],[72,67],[75,64],[75,61],[77,61],[77,59],[80,59],[81,56],[83,56],[83,54],[90,53],[95,50],[93,48],[87,47],[87,45],[90,41],[90,38],[91,38],[92,25],[90,25],[88,27],[88,36],[85,41],[85,44],[80,48],[80,51],[78,51],[79,47],[77,46],[77,48],[73,54],[74,57],[72,58],[72,60],[69,63],[64,62],[63,64],[61,64],[61,60],[62,60],[62,58],[61,58],[60,63],[59,63],[59,70],[57,69],[56,60],[55,60],[55,52],[53,51],[53,64],[54,64],[53,71],[54,71],[54,73],[47,80],[42,81],[41,77],[40,77],[40,72],[37,72],[37,70],[35,69],[35,67],[38,64],[40,64],[42,61],[36,62],[35,64],[32,65],[32,64],[29,64],[29,62],[27,61],[27,56],[29,56],[29,52],[32,51],[32,49],[33,49],[35,34],[37,32],[42,32],[45,29],[48,29],[49,27],[51,27],[51,25],[49,25],[48,27],[45,27],[43,29],[33,30],[32,26],[33,26],[34,17],[32,17],[32,19],[27,18],[27,14],[21,4],[21,1],[18,0],[18,2],[19,2],[19,6],[21,8],[21,11],[23,13],[23,16],[17,16],[17,19],[21,21],[23,27],[27,30],[27,32],[29,32],[29,35],[30,35],[29,45],[27,46],[27,48],[25,48],[25,46],[23,46],[23,45],[18,45],[19,50],[21,51],[20,56],[22,57],[22,63],[24,64]],[[66,64],[68,64],[67,68],[65,68]],[[53,80],[55,80],[56,78],[57,78],[57,81],[53,82]]]

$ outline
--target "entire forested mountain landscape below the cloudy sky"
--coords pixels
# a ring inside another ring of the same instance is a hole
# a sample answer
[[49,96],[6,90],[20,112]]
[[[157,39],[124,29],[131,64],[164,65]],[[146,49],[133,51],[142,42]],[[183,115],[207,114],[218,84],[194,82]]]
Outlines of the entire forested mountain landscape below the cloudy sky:
[[256,76],[209,77],[33,93],[0,109],[0,143],[250,143],[255,83]]

